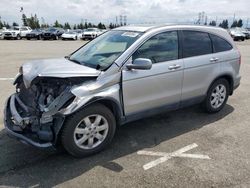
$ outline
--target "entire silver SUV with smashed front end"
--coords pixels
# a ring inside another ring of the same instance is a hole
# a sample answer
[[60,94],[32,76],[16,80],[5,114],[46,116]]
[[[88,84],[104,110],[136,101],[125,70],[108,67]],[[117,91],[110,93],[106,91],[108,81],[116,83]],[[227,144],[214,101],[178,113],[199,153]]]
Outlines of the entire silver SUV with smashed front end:
[[82,157],[118,125],[201,103],[220,111],[240,84],[241,55],[215,27],[125,26],[60,59],[24,64],[5,108],[9,135]]

